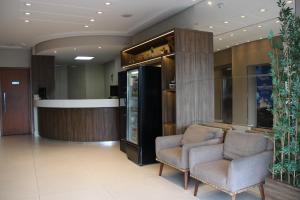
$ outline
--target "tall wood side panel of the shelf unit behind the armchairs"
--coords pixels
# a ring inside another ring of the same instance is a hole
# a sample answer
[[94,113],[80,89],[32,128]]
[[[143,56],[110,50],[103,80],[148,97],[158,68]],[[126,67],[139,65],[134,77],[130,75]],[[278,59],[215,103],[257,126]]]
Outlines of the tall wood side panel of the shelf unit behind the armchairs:
[[213,34],[175,30],[177,134],[214,120]]

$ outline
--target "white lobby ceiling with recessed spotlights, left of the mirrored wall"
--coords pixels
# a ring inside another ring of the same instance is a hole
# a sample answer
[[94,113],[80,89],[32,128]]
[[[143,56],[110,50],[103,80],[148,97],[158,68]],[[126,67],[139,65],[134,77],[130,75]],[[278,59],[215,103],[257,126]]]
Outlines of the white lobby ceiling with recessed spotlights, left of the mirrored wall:
[[[106,6],[108,1],[112,5]],[[128,36],[193,4],[192,0],[1,0],[0,45],[33,46],[78,35]],[[90,22],[92,18],[95,22]]]

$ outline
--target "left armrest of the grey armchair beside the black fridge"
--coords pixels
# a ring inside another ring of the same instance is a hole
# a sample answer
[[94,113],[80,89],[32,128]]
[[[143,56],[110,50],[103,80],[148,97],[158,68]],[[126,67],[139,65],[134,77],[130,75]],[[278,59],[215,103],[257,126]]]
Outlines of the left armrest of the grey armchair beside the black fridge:
[[182,135],[162,136],[155,139],[155,152],[181,145]]

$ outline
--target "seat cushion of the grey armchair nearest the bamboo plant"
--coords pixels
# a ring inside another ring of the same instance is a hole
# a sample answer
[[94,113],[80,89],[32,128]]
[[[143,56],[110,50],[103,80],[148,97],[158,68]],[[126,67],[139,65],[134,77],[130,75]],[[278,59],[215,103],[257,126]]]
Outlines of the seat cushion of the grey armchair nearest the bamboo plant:
[[228,190],[227,179],[229,166],[230,161],[224,159],[196,164],[191,169],[191,176],[200,181]]

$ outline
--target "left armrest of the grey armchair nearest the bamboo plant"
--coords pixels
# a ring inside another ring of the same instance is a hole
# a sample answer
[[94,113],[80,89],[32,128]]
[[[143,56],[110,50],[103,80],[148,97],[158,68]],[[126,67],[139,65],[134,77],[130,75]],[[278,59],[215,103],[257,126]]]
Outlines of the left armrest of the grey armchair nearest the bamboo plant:
[[215,144],[192,148],[189,153],[190,169],[198,163],[223,159],[223,146],[223,144]]

